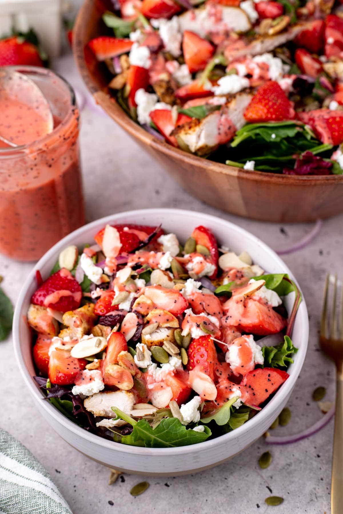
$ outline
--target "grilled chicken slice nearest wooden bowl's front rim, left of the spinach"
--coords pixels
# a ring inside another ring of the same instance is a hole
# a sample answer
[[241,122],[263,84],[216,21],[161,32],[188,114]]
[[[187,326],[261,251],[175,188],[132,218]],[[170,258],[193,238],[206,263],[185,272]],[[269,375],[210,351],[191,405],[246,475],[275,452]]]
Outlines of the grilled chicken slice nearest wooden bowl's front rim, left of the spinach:
[[230,141],[245,124],[244,112],[252,93],[241,92],[231,96],[219,111],[202,120],[192,120],[172,132],[183,150],[200,156],[209,155],[220,144]]

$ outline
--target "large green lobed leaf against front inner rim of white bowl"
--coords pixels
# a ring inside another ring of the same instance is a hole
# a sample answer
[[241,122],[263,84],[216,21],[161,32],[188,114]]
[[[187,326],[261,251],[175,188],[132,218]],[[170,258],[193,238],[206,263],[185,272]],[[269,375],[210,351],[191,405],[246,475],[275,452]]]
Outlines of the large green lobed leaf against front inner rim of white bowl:
[[[133,426],[130,435],[119,435],[120,443],[147,448],[175,448],[202,443],[211,435],[208,427],[205,427],[204,432],[195,432],[192,429],[187,429],[174,417],[161,419],[157,427],[153,429],[146,419],[135,421],[131,416],[116,407],[112,407],[112,410],[121,419]],[[118,440],[118,434],[116,434],[116,439]]]

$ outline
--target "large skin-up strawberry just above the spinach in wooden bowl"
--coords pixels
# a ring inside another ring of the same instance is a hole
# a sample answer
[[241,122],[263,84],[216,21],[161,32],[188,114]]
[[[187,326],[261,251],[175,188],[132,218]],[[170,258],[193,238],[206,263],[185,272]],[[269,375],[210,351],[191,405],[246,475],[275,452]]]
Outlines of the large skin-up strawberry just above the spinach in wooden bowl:
[[274,80],[258,89],[244,113],[244,118],[251,123],[291,120],[294,116],[293,103]]

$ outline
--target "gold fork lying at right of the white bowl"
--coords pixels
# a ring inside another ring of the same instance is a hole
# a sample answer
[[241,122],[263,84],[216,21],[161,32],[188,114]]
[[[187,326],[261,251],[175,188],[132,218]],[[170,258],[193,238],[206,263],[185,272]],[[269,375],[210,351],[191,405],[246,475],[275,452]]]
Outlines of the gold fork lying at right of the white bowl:
[[[333,288],[331,309],[330,289]],[[339,315],[337,314],[339,311]],[[343,284],[340,305],[337,275],[327,274],[320,322],[320,346],[336,365],[336,412],[331,475],[331,514],[343,512]]]

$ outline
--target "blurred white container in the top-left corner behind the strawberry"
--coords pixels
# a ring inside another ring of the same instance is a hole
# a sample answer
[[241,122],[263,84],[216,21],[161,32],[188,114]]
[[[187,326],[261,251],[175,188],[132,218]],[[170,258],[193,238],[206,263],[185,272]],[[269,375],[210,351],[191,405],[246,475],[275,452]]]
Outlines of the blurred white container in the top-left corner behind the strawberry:
[[0,37],[34,29],[48,56],[61,50],[61,0],[0,0]]

